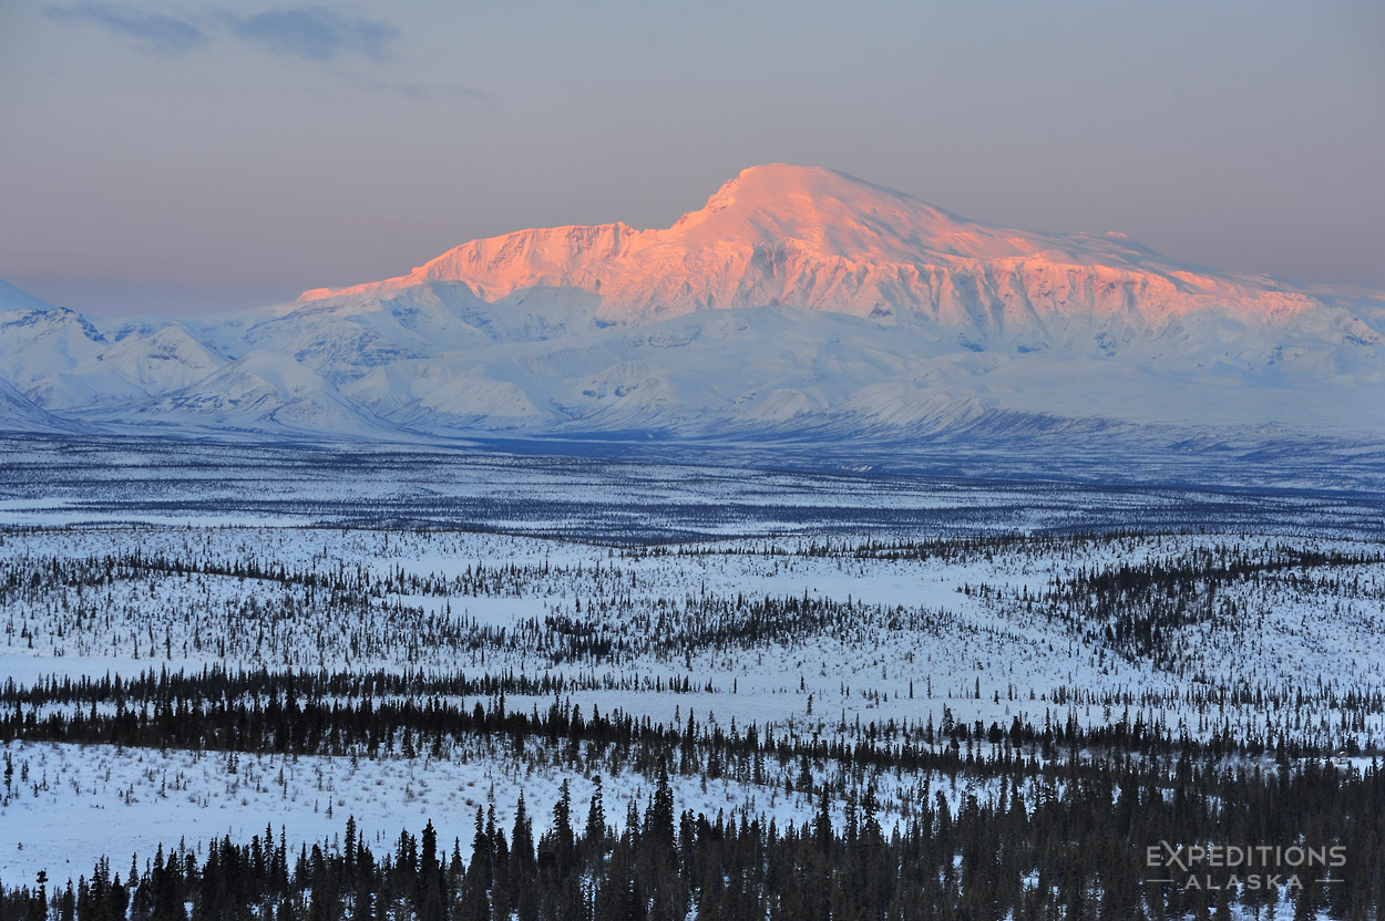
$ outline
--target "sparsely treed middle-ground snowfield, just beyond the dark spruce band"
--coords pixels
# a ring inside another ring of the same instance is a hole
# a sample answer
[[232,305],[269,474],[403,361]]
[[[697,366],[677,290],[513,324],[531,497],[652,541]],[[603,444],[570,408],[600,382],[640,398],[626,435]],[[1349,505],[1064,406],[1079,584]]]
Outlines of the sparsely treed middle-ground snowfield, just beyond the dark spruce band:
[[[824,552],[784,538],[645,552],[507,535],[325,528],[15,532],[0,545],[0,567],[11,584],[0,590],[0,662],[22,683],[50,673],[213,664],[472,675],[512,669],[609,682],[629,673],[676,675],[712,689],[705,700],[683,698],[684,711],[715,708],[762,725],[805,719],[807,696],[824,725],[842,715],[940,719],[943,703],[958,718],[1008,725],[1036,712],[1042,722],[1060,689],[1166,696],[1174,716],[1184,716],[1176,700],[1190,678],[1267,691],[1385,683],[1379,563],[1345,567],[1334,574],[1345,579],[1341,585],[1319,585],[1296,570],[1219,585],[1223,614],[1180,631],[1173,669],[1118,654],[1062,621],[1061,604],[1037,599],[1079,571],[1170,563],[1198,549],[1271,553],[1278,541],[1036,539],[897,560],[860,559],[850,541],[832,546]],[[1375,552],[1342,541],[1285,546]],[[118,568],[122,559],[130,563]],[[58,584],[53,573],[69,573],[75,584]],[[30,585],[35,574],[37,586]],[[752,646],[717,633],[744,626],[756,602],[803,599],[828,611],[810,636],[788,621],[766,628]],[[554,622],[578,625],[619,649],[575,658]],[[478,643],[489,649],[482,653]],[[602,707],[611,704],[596,694]],[[669,700],[612,696],[633,712],[672,718]],[[1237,716],[1224,707],[1220,712],[1219,722]],[[1082,700],[1076,714],[1084,723],[1109,719]],[[1331,714],[1307,709],[1299,716]]]

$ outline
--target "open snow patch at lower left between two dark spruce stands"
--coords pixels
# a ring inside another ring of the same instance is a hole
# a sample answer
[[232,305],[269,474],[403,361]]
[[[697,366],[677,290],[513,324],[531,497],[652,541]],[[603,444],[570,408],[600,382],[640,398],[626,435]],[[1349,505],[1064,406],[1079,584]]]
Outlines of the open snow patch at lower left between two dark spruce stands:
[[[503,751],[478,748],[439,761],[240,754],[233,765],[226,752],[0,745],[0,755],[15,765],[17,787],[0,801],[0,884],[29,884],[39,870],[60,882],[75,881],[90,875],[101,856],[123,875],[132,855],[140,856],[143,867],[161,844],[181,841],[197,850],[212,838],[230,835],[244,842],[265,835],[266,828],[274,838],[283,832],[291,846],[332,842],[339,841],[349,816],[373,841],[384,842],[403,828],[417,834],[432,821],[439,841],[449,850],[457,842],[468,857],[478,806],[493,805],[496,820],[508,830],[524,795],[536,824],[544,827],[564,780],[573,815],[586,816],[593,776],[561,766],[533,769]],[[712,817],[717,810],[730,815],[748,808],[780,826],[801,824],[816,805],[774,784],[677,774],[670,784],[680,810]],[[643,810],[654,790],[654,781],[637,773],[605,773],[601,785],[607,820],[618,828],[627,803],[634,799]],[[895,785],[886,776],[881,788],[889,792]]]

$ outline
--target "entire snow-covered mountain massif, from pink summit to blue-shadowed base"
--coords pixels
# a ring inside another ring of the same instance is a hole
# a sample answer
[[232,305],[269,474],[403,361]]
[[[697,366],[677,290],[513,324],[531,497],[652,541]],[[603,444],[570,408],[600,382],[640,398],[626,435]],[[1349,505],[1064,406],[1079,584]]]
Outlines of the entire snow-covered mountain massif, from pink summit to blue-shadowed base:
[[370,440],[1385,431],[1385,297],[742,171],[666,230],[525,230],[216,321],[0,283],[0,427]]

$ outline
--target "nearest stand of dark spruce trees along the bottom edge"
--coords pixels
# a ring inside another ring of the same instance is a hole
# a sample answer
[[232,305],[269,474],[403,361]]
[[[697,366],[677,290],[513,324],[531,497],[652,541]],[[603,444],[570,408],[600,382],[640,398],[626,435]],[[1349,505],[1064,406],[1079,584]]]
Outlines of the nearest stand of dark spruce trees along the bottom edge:
[[[1172,792],[1172,795],[1169,795]],[[578,828],[568,785],[550,827],[535,838],[521,797],[508,834],[494,806],[478,808],[470,859],[447,849],[432,823],[375,853],[355,820],[331,842],[287,848],[271,828],[248,844],[211,841],[197,853],[159,848],[122,875],[100,862],[64,886],[7,889],[0,921],[233,921],[330,918],[400,921],[879,921],[1065,918],[1255,918],[1366,921],[1385,904],[1385,774],[1343,780],[1314,765],[1266,780],[1259,805],[1219,805],[1210,791],[1112,785],[1076,776],[1025,797],[940,794],[886,832],[873,787],[853,791],[845,823],[828,798],[802,826],[749,815],[677,813],[663,766],[650,799],[630,802],[619,831],[601,787]],[[1337,885],[1285,891],[1188,891],[1147,882],[1136,842],[1267,835],[1345,842]],[[46,881],[44,881],[46,882]],[[695,911],[695,915],[690,915]]]

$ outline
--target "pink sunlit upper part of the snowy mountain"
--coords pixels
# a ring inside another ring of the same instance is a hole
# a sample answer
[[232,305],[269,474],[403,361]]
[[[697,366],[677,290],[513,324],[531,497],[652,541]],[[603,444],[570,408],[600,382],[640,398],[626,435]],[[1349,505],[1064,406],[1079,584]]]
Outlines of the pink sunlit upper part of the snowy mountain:
[[[1136,315],[1141,328],[1216,307],[1244,317],[1307,303],[1266,279],[1195,274],[1123,234],[1042,234],[968,221],[848,173],[788,163],[741,170],[669,228],[551,227],[478,239],[407,275],[299,300],[382,296],[457,282],[485,301],[583,292],[608,319],[792,306],[922,315],[985,342],[1017,325],[1047,342],[1054,318]],[[891,321],[893,322],[893,321]],[[978,339],[979,336],[979,339]]]

